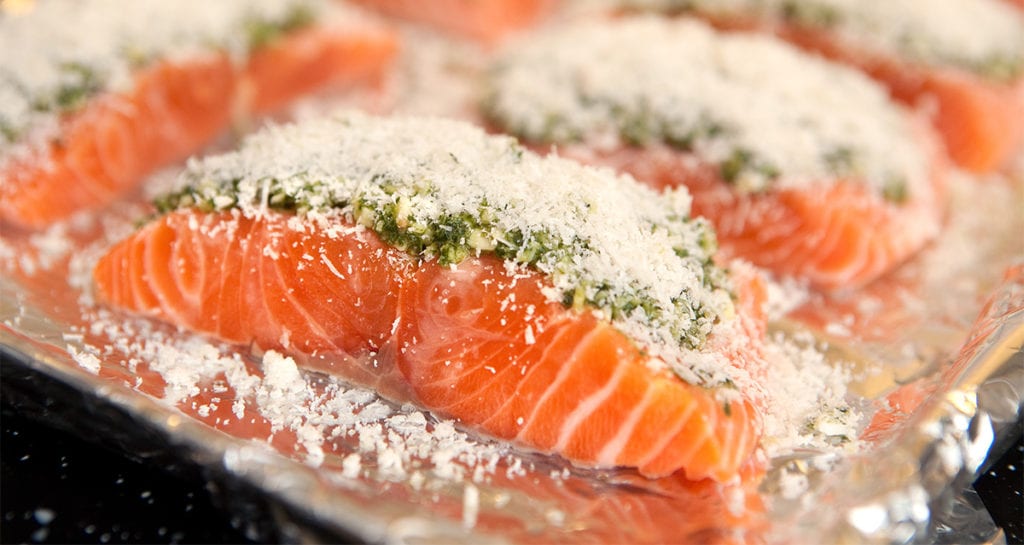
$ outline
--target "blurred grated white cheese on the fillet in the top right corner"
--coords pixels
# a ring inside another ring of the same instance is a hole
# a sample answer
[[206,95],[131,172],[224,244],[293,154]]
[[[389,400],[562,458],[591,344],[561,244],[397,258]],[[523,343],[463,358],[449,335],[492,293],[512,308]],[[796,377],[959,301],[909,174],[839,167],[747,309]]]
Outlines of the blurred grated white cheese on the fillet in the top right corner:
[[1024,71],[1024,15],[999,0],[614,0],[631,8],[756,13],[826,29],[850,45],[993,79]]

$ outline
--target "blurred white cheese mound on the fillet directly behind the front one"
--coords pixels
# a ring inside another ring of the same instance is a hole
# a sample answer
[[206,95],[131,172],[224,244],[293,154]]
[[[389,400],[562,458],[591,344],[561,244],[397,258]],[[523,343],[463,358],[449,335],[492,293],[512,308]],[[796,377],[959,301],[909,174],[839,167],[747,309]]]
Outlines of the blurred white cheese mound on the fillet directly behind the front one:
[[667,143],[743,191],[853,178],[894,200],[926,184],[906,112],[860,73],[688,19],[588,20],[496,61],[484,109],[532,141]]

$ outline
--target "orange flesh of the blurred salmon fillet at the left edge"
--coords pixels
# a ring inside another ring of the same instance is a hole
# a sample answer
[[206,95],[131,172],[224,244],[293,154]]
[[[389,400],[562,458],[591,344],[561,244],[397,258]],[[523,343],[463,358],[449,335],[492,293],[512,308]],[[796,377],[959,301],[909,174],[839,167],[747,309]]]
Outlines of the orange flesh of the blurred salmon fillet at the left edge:
[[59,120],[57,137],[0,163],[0,220],[43,227],[103,206],[161,166],[228,127],[329,82],[372,83],[396,50],[379,28],[305,27],[253,51],[164,59],[133,75],[133,88],[102,92]]

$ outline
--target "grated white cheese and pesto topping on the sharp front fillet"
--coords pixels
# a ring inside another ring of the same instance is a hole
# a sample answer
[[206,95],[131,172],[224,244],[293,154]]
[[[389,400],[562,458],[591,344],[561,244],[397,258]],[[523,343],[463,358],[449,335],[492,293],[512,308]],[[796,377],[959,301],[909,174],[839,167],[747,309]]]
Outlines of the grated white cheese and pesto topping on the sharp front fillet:
[[698,367],[685,378],[732,379],[717,354],[690,353],[734,321],[714,234],[688,219],[685,188],[657,194],[465,123],[357,113],[269,127],[236,153],[191,162],[181,181],[165,208],[218,209],[227,197],[246,215],[297,208],[295,228],[328,233],[343,216],[442,264],[495,251],[513,274],[547,275],[552,301],[592,305],[667,367]]

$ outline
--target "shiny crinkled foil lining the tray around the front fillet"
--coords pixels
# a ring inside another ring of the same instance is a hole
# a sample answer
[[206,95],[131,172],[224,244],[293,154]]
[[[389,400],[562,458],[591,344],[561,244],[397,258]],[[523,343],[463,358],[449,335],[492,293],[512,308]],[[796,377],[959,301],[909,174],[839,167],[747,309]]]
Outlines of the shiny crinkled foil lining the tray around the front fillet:
[[[447,67],[456,73],[472,68]],[[422,73],[409,77],[422,78],[422,85],[429,80]],[[464,91],[442,90],[454,96]],[[404,99],[422,98],[416,94],[409,91]],[[339,390],[333,379],[314,373],[303,375],[309,403],[334,395],[332,403],[340,405],[323,402],[281,425],[260,415],[259,404],[242,400],[274,391],[244,392],[215,372],[171,376],[147,360],[167,358],[159,350],[136,350],[132,358],[96,350],[154,335],[188,338],[137,321],[122,329],[97,326],[97,320],[113,324],[119,317],[97,315],[88,286],[75,281],[110,233],[130,227],[139,210],[131,203],[45,234],[2,233],[5,395],[139,458],[198,464],[226,491],[238,520],[254,537],[474,544],[1000,542],[970,485],[1024,401],[1024,176],[955,175],[950,182],[946,229],[921,255],[856,293],[804,294],[773,324],[780,335],[809,332],[827,346],[829,359],[852,363],[850,391],[870,420],[860,447],[794,450],[741,483],[586,470],[447,428],[447,443],[424,443],[412,428],[436,435],[443,426],[413,408]],[[238,347],[216,349],[242,354],[233,361],[247,376],[263,372],[258,359]],[[173,357],[178,363],[190,358],[187,350]],[[358,426],[331,420],[332,407],[354,413]],[[368,449],[368,429],[390,447]],[[438,455],[467,441],[472,449]],[[406,451],[396,453],[399,444]]]

